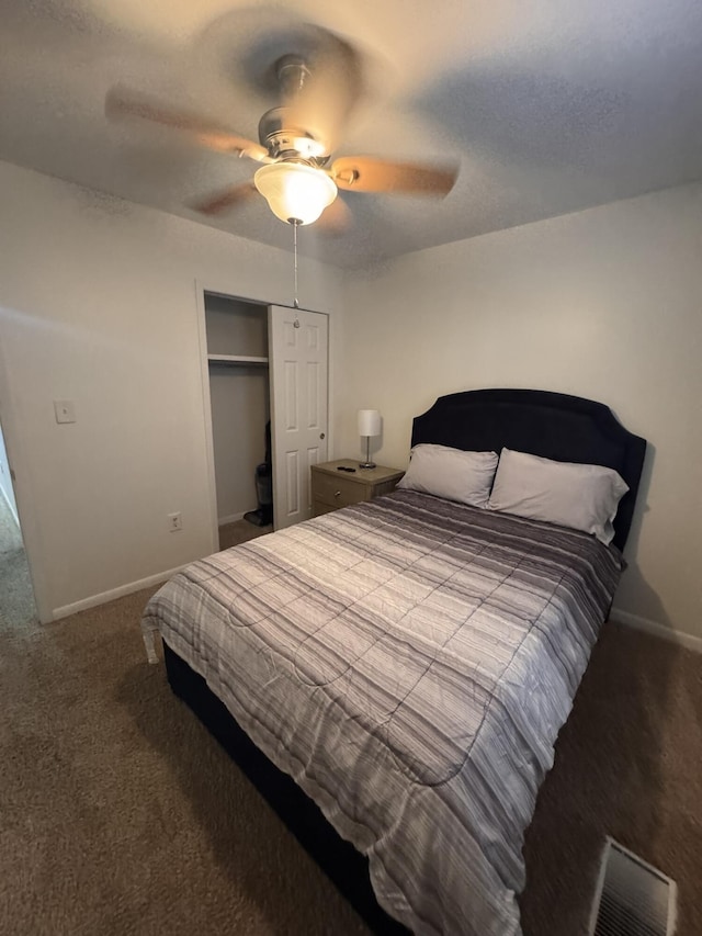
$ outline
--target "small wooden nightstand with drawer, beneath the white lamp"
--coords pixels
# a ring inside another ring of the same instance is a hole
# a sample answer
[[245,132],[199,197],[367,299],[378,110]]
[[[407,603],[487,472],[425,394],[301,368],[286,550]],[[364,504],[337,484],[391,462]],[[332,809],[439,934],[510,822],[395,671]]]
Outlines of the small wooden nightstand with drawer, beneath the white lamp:
[[[355,472],[338,471],[339,465],[354,467]],[[358,461],[338,459],[312,466],[312,510],[313,517],[360,504],[389,494],[405,474],[397,469],[376,465],[374,469],[361,469]]]

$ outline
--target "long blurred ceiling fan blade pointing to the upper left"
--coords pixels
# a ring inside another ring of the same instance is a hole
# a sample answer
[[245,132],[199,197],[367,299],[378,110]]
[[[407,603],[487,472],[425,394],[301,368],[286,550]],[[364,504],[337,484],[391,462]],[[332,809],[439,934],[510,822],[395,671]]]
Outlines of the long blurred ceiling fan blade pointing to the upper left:
[[268,151],[258,143],[237,136],[214,121],[185,111],[171,110],[151,98],[128,91],[120,86],[107,92],[105,114],[110,120],[132,116],[152,121],[195,136],[197,143],[208,149],[249,156],[259,162],[270,161]]

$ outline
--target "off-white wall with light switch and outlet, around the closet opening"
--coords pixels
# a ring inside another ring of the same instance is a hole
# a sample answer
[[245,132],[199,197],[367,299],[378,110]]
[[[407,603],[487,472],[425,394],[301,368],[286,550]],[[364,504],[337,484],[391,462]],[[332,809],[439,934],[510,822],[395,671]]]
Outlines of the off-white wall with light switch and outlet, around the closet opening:
[[[0,416],[46,619],[210,551],[195,281],[290,304],[293,261],[8,163],[0,190]],[[299,283],[339,317],[335,270],[303,259]]]

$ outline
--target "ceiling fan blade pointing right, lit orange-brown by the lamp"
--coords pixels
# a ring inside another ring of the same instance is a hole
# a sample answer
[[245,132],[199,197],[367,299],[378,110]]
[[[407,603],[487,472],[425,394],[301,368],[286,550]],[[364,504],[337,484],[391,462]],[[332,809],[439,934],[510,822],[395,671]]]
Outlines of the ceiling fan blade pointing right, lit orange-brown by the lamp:
[[404,192],[412,195],[448,195],[458,174],[457,167],[443,168],[414,162],[390,162],[370,156],[341,156],[330,176],[350,192]]

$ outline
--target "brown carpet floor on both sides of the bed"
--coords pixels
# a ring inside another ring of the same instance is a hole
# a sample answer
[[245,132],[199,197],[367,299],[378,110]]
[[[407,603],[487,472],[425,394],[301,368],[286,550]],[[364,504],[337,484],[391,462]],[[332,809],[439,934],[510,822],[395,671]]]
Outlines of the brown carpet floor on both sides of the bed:
[[[139,593],[0,624],[0,932],[362,934],[145,661]],[[702,933],[700,657],[608,625],[526,859],[526,936],[581,936],[603,835],[676,878]]]

